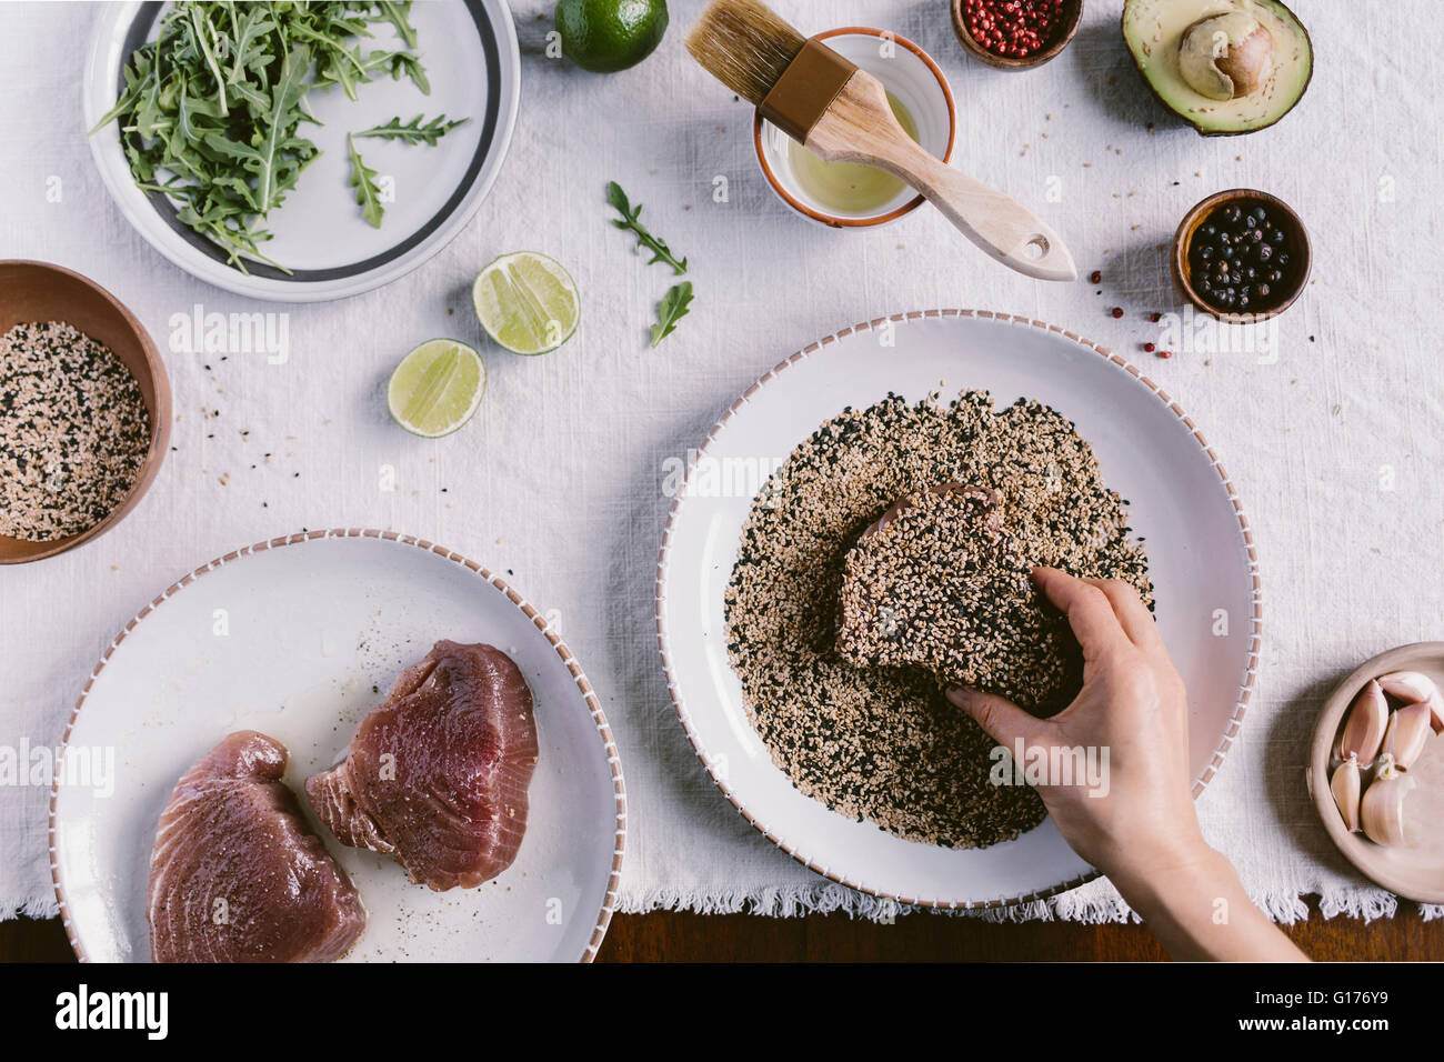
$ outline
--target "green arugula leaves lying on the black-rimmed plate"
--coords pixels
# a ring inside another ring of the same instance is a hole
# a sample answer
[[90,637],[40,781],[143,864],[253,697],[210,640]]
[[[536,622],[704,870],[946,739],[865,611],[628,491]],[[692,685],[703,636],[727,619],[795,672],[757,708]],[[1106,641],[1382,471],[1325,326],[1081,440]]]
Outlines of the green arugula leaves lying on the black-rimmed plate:
[[[248,272],[251,259],[284,270],[260,247],[271,238],[267,215],[321,155],[300,133],[303,123],[319,124],[306,95],[339,85],[354,100],[358,85],[386,75],[410,78],[429,94],[412,51],[410,12],[410,0],[179,0],[156,39],[130,55],[120,98],[91,133],[116,121],[137,186],[175,199],[176,217],[217,243],[232,266]],[[393,26],[403,48],[364,52],[361,42],[378,25]],[[380,224],[375,172],[360,162],[354,142],[348,150],[362,217]]]

